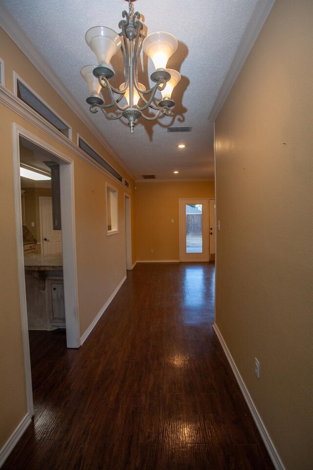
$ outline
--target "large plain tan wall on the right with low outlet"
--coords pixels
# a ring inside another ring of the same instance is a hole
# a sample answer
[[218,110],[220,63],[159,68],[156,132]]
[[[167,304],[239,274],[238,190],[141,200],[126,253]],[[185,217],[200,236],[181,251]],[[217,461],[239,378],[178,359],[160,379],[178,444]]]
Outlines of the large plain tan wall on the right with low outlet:
[[313,462],[312,19],[276,1],[216,120],[216,323],[288,470]]

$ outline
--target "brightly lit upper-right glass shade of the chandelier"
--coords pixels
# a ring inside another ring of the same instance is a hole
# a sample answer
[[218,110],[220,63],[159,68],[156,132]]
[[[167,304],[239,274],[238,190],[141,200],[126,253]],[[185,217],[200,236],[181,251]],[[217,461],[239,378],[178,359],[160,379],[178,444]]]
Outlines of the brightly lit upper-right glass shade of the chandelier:
[[142,43],[142,50],[150,57],[156,70],[166,69],[167,61],[177,47],[176,37],[164,31],[149,34]]

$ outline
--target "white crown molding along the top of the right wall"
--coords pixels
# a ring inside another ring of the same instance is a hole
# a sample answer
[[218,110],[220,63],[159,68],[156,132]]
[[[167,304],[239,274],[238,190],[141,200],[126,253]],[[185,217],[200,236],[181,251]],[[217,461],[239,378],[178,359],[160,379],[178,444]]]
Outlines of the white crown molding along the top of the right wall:
[[246,62],[246,58],[249,55],[249,52],[262,29],[262,26],[266,22],[266,19],[268,18],[274,3],[275,0],[262,0],[257,2],[243,37],[240,41],[237,52],[228,69],[228,72],[224,78],[224,82],[209,114],[209,121],[211,123],[214,123],[218,117],[218,114],[221,111],[222,106],[236,81],[236,78],[243,68],[244,63]]

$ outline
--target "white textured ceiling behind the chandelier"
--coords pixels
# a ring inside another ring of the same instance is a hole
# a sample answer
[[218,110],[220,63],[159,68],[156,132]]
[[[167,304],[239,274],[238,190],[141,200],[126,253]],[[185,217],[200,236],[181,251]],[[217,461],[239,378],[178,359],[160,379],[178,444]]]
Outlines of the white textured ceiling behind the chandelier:
[[[262,0],[259,0],[259,2]],[[257,0],[138,0],[135,10],[142,15],[147,34],[163,30],[176,36],[179,46],[168,68],[181,74],[172,97],[176,106],[171,117],[148,123],[140,119],[131,135],[123,118],[109,121],[91,115],[85,99],[86,83],[80,76],[84,65],[94,64],[85,42],[92,26],[105,25],[119,32],[124,0],[0,0],[35,48],[45,58],[135,178],[155,174],[157,179],[214,178],[213,124],[209,115],[224,78],[240,45]],[[113,57],[118,87],[124,81],[119,53]],[[150,61],[150,59],[149,59]],[[147,58],[143,64],[147,64]],[[148,84],[153,71],[139,74]],[[188,133],[168,133],[168,126],[192,126]],[[179,143],[186,148],[179,149]],[[92,144],[92,143],[90,143]]]

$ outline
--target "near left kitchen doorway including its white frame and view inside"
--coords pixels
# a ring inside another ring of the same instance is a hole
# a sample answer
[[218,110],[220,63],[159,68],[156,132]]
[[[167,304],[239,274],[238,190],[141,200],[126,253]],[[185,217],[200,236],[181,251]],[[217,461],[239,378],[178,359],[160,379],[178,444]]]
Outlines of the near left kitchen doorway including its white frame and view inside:
[[[14,124],[13,132],[19,291],[27,404],[32,416],[29,330],[64,328],[67,347],[80,346],[73,162],[17,124]],[[45,181],[41,176],[37,180],[25,178],[21,168],[47,178]],[[58,176],[53,178],[55,169]],[[45,211],[41,208],[40,198],[50,201]],[[45,236],[42,233],[44,225]],[[49,252],[44,247],[44,243],[49,242],[48,232],[59,235],[59,242],[47,248]]]

